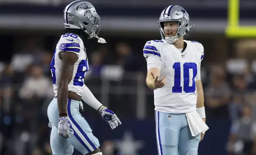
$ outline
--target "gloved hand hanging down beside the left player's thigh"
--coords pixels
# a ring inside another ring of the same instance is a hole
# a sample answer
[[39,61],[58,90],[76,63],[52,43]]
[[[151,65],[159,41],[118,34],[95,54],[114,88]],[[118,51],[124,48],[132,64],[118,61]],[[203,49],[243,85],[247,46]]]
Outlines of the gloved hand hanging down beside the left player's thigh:
[[58,125],[58,134],[64,138],[70,138],[69,130],[74,134],[74,131],[70,129],[71,124],[68,117],[60,117]]

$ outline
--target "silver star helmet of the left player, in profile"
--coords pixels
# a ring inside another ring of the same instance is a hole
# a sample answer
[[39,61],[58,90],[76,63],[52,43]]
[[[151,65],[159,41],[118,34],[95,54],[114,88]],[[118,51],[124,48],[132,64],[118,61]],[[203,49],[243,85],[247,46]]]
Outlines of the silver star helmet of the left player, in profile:
[[76,0],[63,11],[66,28],[81,29],[90,38],[98,38],[100,17],[94,6],[85,0]]

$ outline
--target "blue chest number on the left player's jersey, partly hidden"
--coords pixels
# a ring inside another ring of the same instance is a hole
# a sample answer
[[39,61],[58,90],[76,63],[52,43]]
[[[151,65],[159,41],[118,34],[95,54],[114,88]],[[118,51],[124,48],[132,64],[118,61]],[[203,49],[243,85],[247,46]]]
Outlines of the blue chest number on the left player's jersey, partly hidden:
[[78,70],[76,71],[76,76],[74,77],[73,84],[78,86],[83,86],[83,79],[86,72],[89,70],[86,60],[81,60],[78,65]]

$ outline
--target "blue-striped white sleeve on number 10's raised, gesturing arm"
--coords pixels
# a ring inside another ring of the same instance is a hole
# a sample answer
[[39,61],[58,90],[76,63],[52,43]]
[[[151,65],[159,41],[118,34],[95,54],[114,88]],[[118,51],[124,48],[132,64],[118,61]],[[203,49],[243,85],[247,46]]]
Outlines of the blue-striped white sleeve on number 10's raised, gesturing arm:
[[159,50],[152,41],[146,42],[143,48],[143,55],[147,61],[147,70],[150,68],[162,68],[162,59]]

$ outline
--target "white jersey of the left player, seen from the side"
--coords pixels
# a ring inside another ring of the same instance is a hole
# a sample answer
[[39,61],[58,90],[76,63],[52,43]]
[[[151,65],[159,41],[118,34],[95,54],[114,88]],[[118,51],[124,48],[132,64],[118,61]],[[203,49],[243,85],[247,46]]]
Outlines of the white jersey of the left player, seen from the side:
[[52,57],[52,62],[50,63],[55,96],[57,96],[58,79],[61,65],[61,59],[59,57],[60,52],[72,52],[78,56],[78,60],[74,64],[72,79],[68,84],[68,91],[75,92],[76,94],[82,96],[83,79],[85,78],[86,72],[89,70],[88,59],[83,41],[79,36],[72,33],[64,34],[60,37]]

